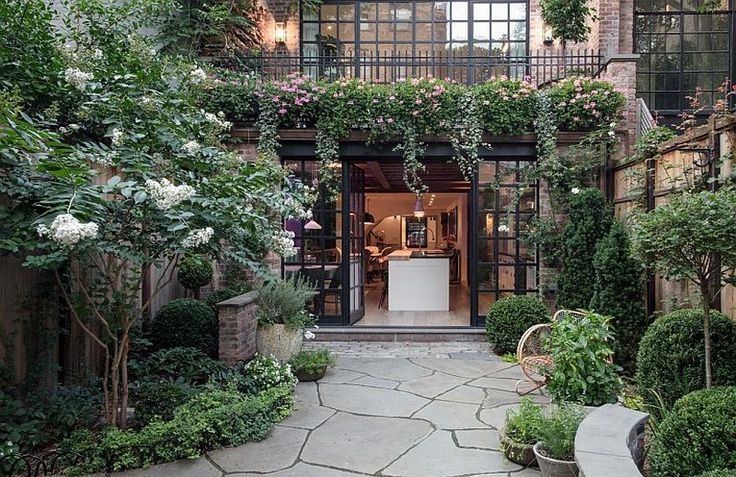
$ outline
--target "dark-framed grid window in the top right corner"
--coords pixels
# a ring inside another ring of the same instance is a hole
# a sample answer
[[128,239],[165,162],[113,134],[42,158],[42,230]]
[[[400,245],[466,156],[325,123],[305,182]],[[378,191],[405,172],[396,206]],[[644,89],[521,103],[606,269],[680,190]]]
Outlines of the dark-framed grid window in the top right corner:
[[689,109],[696,88],[701,105],[714,104],[718,87],[734,76],[733,10],[713,11],[701,2],[636,3],[637,92],[665,116]]

